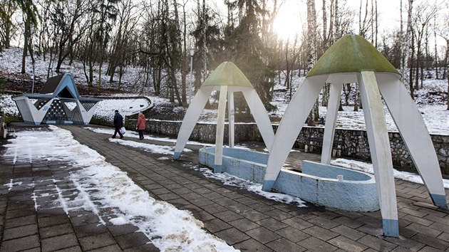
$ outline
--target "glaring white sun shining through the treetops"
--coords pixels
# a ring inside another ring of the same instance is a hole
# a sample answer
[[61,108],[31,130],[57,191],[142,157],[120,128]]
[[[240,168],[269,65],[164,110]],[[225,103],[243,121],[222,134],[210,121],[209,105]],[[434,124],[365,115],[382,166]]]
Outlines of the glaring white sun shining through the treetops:
[[274,33],[284,41],[301,35],[302,22],[299,1],[286,1],[279,8],[273,23]]

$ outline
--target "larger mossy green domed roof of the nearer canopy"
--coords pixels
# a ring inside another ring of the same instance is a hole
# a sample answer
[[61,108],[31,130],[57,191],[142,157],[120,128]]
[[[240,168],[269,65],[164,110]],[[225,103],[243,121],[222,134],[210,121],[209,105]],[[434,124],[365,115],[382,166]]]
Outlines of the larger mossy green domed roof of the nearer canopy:
[[398,70],[371,45],[358,35],[341,37],[319,58],[307,77],[329,73],[362,71],[398,73]]

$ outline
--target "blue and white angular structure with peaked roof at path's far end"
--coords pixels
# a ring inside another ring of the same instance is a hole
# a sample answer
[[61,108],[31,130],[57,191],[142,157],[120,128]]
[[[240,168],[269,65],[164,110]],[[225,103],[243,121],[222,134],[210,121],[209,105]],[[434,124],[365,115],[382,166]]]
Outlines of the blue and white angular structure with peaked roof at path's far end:
[[88,125],[101,99],[81,97],[72,75],[66,73],[48,78],[40,93],[18,95],[13,100],[26,123]]

